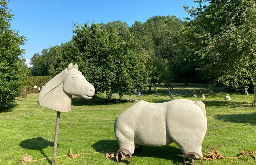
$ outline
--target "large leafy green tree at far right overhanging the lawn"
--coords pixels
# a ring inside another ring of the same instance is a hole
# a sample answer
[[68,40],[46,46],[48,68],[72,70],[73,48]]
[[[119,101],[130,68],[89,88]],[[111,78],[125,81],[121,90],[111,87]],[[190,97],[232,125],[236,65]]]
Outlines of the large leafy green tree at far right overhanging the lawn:
[[[206,0],[210,4],[190,10],[194,14],[195,36],[205,43],[197,50],[202,70],[209,70],[215,82],[233,88],[252,84],[256,104],[256,2],[254,0]],[[197,1],[202,6],[202,0]]]

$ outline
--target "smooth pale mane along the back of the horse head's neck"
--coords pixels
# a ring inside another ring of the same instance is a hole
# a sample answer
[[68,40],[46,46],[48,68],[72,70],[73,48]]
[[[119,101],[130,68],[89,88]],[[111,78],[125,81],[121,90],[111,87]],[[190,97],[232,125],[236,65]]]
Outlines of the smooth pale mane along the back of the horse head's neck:
[[56,87],[60,86],[68,74],[67,68],[63,70],[61,73],[57,74],[54,78],[52,78],[48,83],[45,84],[43,89],[41,90],[39,96],[38,96],[38,104],[40,104],[44,97],[52,90],[54,90]]

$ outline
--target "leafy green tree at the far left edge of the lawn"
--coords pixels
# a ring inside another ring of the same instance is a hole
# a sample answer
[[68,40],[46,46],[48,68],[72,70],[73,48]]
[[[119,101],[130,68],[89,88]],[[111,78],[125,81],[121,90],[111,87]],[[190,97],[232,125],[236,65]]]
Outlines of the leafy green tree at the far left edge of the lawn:
[[27,75],[25,59],[21,59],[25,42],[18,31],[10,30],[13,15],[7,8],[8,2],[0,0],[0,107],[5,108],[15,101],[23,90],[22,81]]

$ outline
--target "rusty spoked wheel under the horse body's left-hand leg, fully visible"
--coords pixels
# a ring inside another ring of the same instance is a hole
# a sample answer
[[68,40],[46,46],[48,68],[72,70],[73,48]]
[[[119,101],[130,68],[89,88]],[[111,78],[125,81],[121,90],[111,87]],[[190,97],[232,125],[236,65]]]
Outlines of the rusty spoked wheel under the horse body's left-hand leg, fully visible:
[[130,164],[133,160],[129,150],[121,148],[116,152],[116,161],[120,164]]

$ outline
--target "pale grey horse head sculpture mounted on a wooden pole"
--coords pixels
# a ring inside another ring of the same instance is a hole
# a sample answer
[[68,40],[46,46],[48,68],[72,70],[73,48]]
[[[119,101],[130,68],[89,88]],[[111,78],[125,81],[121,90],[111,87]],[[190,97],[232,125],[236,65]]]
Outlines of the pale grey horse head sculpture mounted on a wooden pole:
[[78,71],[78,65],[70,63],[65,70],[44,86],[37,102],[49,109],[69,112],[71,111],[72,95],[80,96],[83,99],[91,99],[94,91],[92,84]]

